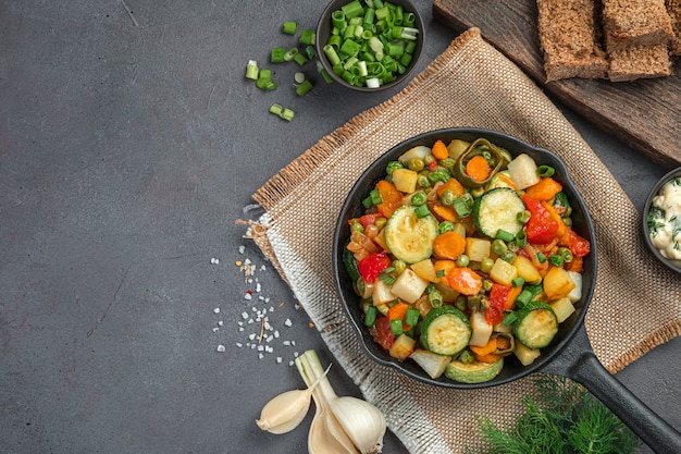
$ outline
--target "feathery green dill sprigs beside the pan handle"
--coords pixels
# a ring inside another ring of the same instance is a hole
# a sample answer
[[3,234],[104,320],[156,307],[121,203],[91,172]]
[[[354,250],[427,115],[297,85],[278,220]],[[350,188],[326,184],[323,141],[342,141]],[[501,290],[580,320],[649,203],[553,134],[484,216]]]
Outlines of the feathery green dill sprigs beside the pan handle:
[[641,440],[583,386],[538,375],[536,396],[522,400],[524,414],[498,427],[478,420],[486,447],[468,454],[633,454]]

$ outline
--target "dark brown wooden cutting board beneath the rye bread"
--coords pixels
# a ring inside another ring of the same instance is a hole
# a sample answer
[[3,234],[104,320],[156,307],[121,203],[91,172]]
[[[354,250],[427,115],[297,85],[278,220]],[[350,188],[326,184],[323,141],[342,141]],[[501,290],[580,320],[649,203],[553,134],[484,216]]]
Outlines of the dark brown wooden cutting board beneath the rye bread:
[[681,164],[681,59],[671,77],[547,84],[534,0],[434,0],[433,16],[457,33],[480,28],[487,42],[555,99],[657,163]]

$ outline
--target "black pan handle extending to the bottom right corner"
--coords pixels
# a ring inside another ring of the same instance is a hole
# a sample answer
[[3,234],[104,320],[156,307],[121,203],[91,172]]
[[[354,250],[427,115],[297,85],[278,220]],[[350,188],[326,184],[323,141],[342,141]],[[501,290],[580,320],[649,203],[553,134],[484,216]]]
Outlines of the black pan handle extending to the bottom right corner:
[[617,380],[594,355],[584,324],[542,371],[584,385],[657,454],[681,453],[681,433]]

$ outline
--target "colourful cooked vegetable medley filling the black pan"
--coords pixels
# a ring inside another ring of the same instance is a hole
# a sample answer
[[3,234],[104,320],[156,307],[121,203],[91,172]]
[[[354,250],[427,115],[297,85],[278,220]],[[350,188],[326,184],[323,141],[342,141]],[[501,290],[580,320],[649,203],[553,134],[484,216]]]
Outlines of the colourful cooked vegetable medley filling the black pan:
[[349,221],[345,267],[391,356],[479,383],[552,343],[590,253],[554,173],[485,138],[417,146],[387,165]]

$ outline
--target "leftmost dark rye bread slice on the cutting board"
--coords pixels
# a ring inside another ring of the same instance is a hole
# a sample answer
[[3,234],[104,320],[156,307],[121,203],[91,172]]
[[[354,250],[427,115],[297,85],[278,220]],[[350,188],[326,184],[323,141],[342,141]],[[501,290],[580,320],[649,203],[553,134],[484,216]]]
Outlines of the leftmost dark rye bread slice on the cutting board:
[[540,45],[546,82],[569,77],[606,78],[593,0],[537,0]]

